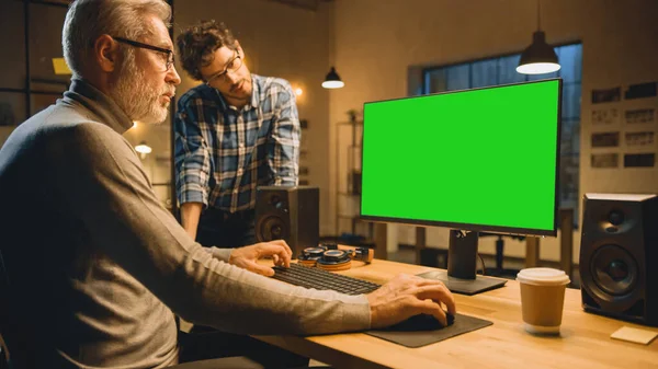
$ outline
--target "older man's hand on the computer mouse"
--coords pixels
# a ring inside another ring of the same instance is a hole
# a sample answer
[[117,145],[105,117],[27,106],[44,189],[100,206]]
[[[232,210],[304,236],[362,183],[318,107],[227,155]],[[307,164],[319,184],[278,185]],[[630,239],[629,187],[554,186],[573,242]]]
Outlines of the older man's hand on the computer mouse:
[[447,312],[456,313],[452,292],[439,280],[400,274],[386,285],[366,295],[371,307],[371,327],[397,324],[418,314],[430,314],[447,325]]

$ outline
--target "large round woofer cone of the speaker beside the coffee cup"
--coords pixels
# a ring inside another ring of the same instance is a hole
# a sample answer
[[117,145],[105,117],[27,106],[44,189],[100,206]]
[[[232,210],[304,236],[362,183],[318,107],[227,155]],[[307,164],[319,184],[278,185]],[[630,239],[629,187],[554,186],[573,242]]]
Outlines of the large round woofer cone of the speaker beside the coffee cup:
[[637,263],[619,245],[606,244],[599,247],[590,265],[594,284],[605,293],[628,295],[637,284],[639,270]]

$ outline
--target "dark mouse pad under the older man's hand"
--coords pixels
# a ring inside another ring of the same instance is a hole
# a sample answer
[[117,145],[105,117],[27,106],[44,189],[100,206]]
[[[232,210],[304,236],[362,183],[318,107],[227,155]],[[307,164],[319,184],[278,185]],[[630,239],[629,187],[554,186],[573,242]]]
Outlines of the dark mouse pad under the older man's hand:
[[455,322],[452,325],[435,331],[404,332],[398,330],[385,328],[377,331],[366,331],[364,333],[377,338],[393,342],[394,344],[415,348],[433,344],[454,336],[458,336],[463,333],[484,328],[485,326],[489,326],[491,324],[494,323],[484,319],[462,315],[457,313],[455,315]]

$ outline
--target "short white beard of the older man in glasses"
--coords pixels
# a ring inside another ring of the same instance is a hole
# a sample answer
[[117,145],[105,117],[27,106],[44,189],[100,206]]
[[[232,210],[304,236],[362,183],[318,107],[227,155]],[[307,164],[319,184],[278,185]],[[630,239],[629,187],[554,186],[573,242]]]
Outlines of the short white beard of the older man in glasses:
[[166,85],[161,90],[151,87],[144,71],[135,67],[134,60],[134,57],[126,60],[110,96],[131,120],[160,124],[167,118],[169,112],[169,103],[160,102],[160,97],[173,90],[173,87]]

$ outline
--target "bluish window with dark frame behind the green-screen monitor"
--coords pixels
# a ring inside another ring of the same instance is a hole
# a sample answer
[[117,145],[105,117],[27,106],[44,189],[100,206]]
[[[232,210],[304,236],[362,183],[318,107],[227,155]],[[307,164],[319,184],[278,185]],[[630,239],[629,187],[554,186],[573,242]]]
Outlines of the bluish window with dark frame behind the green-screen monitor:
[[[421,94],[475,89],[559,77],[563,79],[559,207],[572,208],[578,219],[580,160],[580,84],[582,44],[555,47],[561,68],[553,73],[526,76],[517,72],[521,54],[422,70]],[[578,224],[575,224],[576,227]]]

